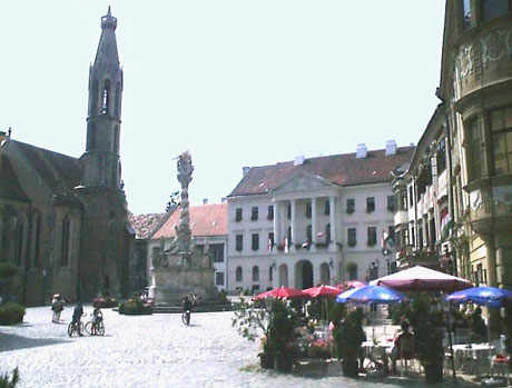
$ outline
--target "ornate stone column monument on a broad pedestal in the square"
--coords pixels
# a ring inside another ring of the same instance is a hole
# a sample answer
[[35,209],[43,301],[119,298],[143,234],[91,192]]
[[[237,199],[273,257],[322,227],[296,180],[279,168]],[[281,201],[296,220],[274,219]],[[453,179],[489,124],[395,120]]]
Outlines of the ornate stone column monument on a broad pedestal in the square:
[[197,295],[201,304],[213,304],[218,299],[215,269],[207,253],[195,252],[190,239],[188,185],[194,166],[188,152],[178,157],[177,170],[181,186],[179,226],[175,227],[176,237],[170,245],[165,247],[163,240],[160,253],[151,258],[149,296],[157,306],[180,306],[181,298],[190,294]]

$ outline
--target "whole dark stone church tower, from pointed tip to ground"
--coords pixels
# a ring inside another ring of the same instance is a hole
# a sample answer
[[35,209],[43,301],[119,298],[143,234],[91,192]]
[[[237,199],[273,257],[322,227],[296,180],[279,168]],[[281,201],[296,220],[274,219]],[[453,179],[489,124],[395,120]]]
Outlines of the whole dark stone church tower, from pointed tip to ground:
[[89,69],[87,145],[80,158],[83,175],[76,188],[83,203],[77,292],[81,298],[126,295],[132,252],[119,158],[122,70],[116,28],[109,7],[101,18],[98,52]]

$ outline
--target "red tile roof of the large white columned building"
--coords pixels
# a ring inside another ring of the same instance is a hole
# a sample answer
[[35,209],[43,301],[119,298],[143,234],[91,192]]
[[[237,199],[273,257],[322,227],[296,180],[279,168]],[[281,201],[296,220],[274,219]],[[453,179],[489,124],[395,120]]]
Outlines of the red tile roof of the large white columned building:
[[360,159],[356,159],[355,153],[333,155],[305,159],[299,166],[286,161],[252,167],[229,197],[266,193],[298,172],[319,176],[339,186],[386,182],[393,169],[411,160],[414,149],[400,147],[396,155],[391,156],[386,156],[385,150],[368,151],[366,158]]

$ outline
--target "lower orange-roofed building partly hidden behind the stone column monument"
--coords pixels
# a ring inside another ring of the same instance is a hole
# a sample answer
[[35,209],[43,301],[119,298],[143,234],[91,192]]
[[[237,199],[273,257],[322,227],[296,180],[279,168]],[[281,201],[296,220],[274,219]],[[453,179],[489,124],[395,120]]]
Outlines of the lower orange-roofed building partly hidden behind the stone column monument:
[[[190,206],[191,245],[198,252],[208,253],[215,267],[215,285],[217,289],[226,290],[227,272],[227,203],[206,203]],[[147,273],[152,258],[161,249],[168,249],[176,237],[175,227],[179,225],[180,207],[178,206],[155,229],[148,241]]]

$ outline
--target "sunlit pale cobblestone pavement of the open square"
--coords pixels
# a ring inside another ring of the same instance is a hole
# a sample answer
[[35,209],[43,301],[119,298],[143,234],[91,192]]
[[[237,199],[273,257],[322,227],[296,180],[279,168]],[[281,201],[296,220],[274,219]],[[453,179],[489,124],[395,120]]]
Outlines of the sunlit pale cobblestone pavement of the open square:
[[[85,308],[87,314],[91,307]],[[24,324],[0,326],[0,372],[19,367],[20,387],[363,387],[368,381],[280,375],[257,368],[258,345],[230,325],[232,312],[128,317],[106,309],[105,337],[69,338],[49,307],[28,308]],[[85,318],[88,319],[88,318]],[[387,380],[381,387],[417,386]]]

